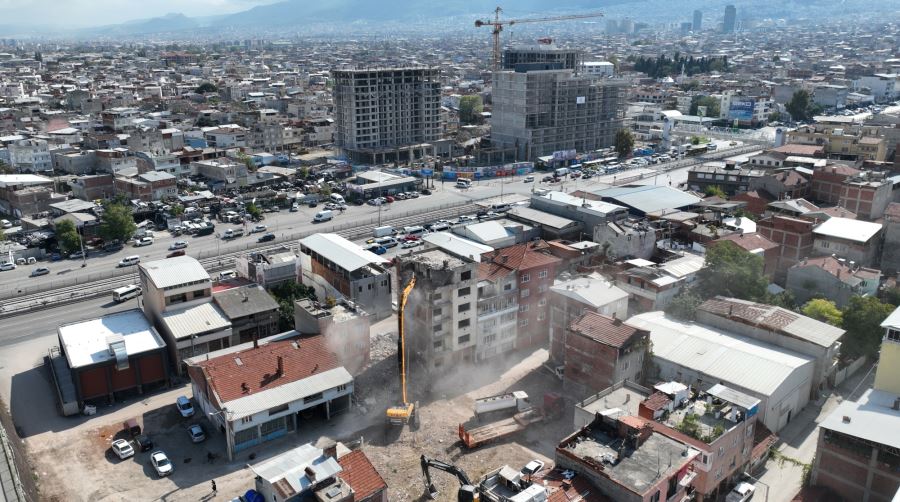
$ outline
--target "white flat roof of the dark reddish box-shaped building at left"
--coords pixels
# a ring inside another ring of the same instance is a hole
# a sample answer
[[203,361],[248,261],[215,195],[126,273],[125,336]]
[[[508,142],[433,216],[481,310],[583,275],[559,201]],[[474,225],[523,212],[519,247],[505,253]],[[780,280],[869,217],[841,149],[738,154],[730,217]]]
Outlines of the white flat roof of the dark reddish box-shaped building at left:
[[64,324],[57,331],[70,368],[114,359],[107,344],[107,338],[113,335],[124,338],[125,350],[129,356],[166,346],[140,309]]

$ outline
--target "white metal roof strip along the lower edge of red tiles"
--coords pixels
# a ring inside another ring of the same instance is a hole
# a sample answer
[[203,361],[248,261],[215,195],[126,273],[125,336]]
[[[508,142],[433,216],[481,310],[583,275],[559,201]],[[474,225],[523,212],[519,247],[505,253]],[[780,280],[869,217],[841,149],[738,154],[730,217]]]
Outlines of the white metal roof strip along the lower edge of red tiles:
[[261,411],[281,406],[282,404],[302,401],[304,397],[313,396],[339,385],[346,385],[347,392],[353,392],[353,377],[343,366],[310,375],[302,380],[288,382],[262,392],[244,396],[223,403],[228,408],[229,418],[234,421],[249,417]]

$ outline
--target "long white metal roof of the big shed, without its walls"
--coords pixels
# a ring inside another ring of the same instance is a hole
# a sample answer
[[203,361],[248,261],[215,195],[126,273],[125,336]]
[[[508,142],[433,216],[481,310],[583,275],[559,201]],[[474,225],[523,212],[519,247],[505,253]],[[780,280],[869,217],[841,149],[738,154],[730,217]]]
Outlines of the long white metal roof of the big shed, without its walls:
[[812,376],[810,357],[663,312],[639,314],[626,324],[650,331],[654,357],[762,395],[772,395],[796,371]]

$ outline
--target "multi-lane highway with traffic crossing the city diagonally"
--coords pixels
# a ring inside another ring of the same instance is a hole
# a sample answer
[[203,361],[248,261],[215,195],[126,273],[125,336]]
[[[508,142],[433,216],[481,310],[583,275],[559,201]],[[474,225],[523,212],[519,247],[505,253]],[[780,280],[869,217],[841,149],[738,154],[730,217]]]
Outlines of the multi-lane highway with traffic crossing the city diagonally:
[[[733,154],[746,154],[748,147],[737,147],[730,151],[719,151],[715,157]],[[296,240],[314,232],[336,232],[351,240],[364,240],[371,235],[375,226],[384,223],[395,227],[421,224],[437,219],[450,219],[461,214],[473,213],[477,203],[486,203],[505,196],[530,195],[535,187],[545,186],[551,189],[595,189],[623,181],[637,184],[672,184],[677,186],[687,178],[690,167],[709,159],[682,159],[620,172],[615,176],[604,176],[590,180],[570,180],[562,185],[542,185],[524,183],[523,177],[512,177],[503,180],[479,181],[466,190],[459,190],[453,183],[435,183],[434,193],[417,199],[397,201],[392,204],[374,207],[369,205],[350,206],[344,213],[337,213],[327,223],[313,223],[312,216],[317,208],[302,207],[300,211],[291,213],[267,213],[263,222],[268,231],[277,236],[277,240],[266,244],[257,244],[260,234],[249,234],[233,240],[223,240],[216,235],[204,237],[173,237],[168,232],[156,232],[152,245],[140,248],[126,247],[117,253],[98,253],[86,260],[81,267],[80,260],[64,260],[53,263],[41,263],[20,266],[16,270],[0,272],[0,316],[10,315],[35,307],[52,307],[60,304],[71,304],[84,298],[94,298],[98,294],[104,297],[112,289],[136,281],[136,267],[117,268],[116,264],[124,256],[139,255],[142,261],[165,258],[170,252],[169,245],[175,240],[187,241],[185,250],[190,256],[198,258],[210,271],[230,268],[234,256],[249,249],[272,249],[279,246],[293,246]],[[536,176],[538,180],[540,176]],[[219,224],[217,232],[222,232],[233,225]],[[49,275],[29,277],[31,270],[37,266],[50,268]]]

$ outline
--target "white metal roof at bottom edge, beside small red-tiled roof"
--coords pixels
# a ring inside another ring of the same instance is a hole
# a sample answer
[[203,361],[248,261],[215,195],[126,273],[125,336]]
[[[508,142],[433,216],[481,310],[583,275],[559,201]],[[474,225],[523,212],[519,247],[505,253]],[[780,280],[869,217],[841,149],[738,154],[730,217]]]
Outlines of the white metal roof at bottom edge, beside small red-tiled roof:
[[307,443],[265,462],[251,465],[250,470],[270,484],[286,481],[294,493],[300,493],[313,484],[306,474],[309,467],[317,480],[328,479],[341,472],[343,468],[333,457],[326,457],[321,448]]

